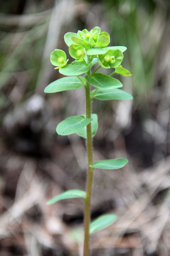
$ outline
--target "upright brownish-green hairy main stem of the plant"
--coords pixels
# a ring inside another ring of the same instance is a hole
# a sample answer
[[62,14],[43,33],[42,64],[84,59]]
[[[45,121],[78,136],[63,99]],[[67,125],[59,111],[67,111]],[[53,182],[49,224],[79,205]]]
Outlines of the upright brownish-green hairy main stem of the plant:
[[[87,71],[87,75],[90,75],[90,69]],[[91,99],[90,99],[90,84],[85,84],[85,96],[86,96],[86,118],[91,118]],[[92,149],[92,131],[91,123],[86,126],[87,131],[87,156],[88,156],[88,174],[86,183],[86,198],[85,198],[85,212],[84,212],[84,252],[83,256],[89,256],[89,225],[90,225],[90,208],[91,208],[91,196],[92,196],[92,183],[93,183],[93,170],[90,164],[93,164],[93,149]]]

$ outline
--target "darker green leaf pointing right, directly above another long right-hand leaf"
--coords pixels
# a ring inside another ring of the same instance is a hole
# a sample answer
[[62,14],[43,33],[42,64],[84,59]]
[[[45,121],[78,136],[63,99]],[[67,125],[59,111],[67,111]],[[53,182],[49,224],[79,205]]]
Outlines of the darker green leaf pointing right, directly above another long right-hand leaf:
[[92,76],[85,75],[85,79],[93,86],[100,89],[113,89],[122,87],[119,80],[101,73],[94,73]]

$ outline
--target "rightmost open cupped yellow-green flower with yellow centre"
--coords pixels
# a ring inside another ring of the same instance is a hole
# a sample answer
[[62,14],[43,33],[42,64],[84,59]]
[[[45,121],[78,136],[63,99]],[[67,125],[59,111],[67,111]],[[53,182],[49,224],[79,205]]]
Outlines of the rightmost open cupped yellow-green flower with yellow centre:
[[123,53],[116,50],[108,50],[105,54],[98,55],[98,61],[103,68],[115,68],[118,67],[123,60]]

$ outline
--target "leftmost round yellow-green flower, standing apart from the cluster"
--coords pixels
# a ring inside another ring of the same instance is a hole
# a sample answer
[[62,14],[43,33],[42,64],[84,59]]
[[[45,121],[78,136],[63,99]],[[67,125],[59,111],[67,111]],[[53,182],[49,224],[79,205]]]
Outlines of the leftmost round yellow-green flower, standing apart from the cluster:
[[65,52],[59,49],[55,49],[54,52],[51,52],[50,61],[56,66],[55,69],[64,67],[68,62]]

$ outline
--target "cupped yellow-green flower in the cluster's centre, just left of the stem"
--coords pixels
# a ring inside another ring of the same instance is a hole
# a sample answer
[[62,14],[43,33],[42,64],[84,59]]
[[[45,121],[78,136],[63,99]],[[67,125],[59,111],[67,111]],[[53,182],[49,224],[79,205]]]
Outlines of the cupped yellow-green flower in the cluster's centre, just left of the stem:
[[85,58],[85,48],[81,44],[71,44],[69,46],[69,53],[77,61],[82,61]]

